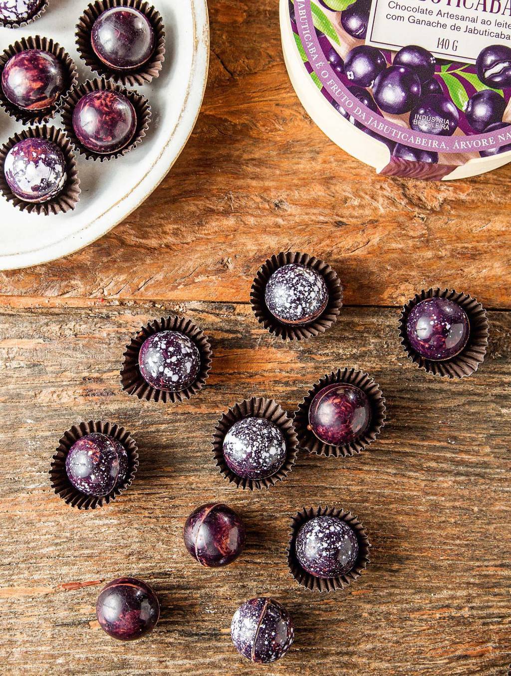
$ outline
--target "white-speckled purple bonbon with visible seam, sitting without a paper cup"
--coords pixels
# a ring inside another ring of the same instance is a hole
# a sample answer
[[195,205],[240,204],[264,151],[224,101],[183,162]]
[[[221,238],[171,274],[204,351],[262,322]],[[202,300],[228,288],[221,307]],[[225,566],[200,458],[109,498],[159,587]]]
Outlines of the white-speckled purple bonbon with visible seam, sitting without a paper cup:
[[252,598],[234,613],[231,637],[248,660],[267,664],[283,657],[294,640],[290,614],[271,598]]

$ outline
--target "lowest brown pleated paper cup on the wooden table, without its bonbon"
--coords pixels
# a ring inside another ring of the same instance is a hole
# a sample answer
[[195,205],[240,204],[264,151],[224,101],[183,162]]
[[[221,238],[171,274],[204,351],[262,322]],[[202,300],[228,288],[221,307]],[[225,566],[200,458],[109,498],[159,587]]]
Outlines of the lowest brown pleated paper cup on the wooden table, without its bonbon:
[[[330,577],[327,579],[315,577],[314,575],[307,573],[298,562],[298,559],[296,558],[296,536],[303,524],[310,521],[311,518],[315,518],[315,516],[336,516],[342,521],[345,521],[345,523],[347,523],[354,531],[359,544],[359,554],[353,569],[351,569],[349,573],[346,573],[346,575],[339,575],[338,577]],[[370,564],[370,548],[371,544],[368,535],[365,532],[365,528],[360,523],[357,516],[353,516],[351,512],[346,512],[345,510],[336,509],[334,507],[304,507],[301,512],[298,512],[296,516],[293,516],[292,518],[286,554],[288,557],[290,573],[296,582],[302,587],[305,587],[305,589],[309,589],[310,592],[319,592],[320,594],[323,594],[325,592],[336,592],[337,589],[343,589],[363,575],[368,564]]]

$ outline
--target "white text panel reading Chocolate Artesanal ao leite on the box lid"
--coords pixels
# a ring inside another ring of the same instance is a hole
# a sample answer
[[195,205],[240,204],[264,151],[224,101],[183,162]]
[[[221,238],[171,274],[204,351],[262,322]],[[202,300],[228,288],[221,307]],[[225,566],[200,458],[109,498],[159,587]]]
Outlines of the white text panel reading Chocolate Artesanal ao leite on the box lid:
[[511,0],[373,0],[365,43],[475,64],[489,45],[511,47]]

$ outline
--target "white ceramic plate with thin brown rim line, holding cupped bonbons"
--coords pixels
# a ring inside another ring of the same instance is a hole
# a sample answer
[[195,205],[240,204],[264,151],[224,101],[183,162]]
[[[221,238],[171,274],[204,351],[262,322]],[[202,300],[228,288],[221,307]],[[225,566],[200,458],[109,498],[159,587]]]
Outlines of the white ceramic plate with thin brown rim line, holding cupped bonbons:
[[[74,43],[76,22],[89,0],[50,0],[43,17],[24,28],[0,27],[0,51],[21,37],[53,38],[70,53],[80,81],[96,75],[81,62]],[[197,120],[208,74],[206,0],[153,0],[162,15],[166,55],[160,76],[143,87],[152,122],[143,143],[111,162],[76,153],[81,199],[73,212],[38,216],[20,212],[0,195],[0,269],[25,268],[87,246],[124,220],[154,191],[185,147]],[[60,116],[54,122],[60,124]],[[0,110],[0,142],[24,128]]]

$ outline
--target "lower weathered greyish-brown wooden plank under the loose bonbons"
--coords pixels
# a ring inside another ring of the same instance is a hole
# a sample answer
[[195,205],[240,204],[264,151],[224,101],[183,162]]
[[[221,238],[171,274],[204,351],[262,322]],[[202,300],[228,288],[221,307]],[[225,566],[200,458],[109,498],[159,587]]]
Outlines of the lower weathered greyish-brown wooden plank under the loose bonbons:
[[[449,382],[401,352],[395,309],[344,308],[313,341],[268,335],[246,304],[110,304],[0,314],[0,672],[5,674],[301,673],[349,676],[504,676],[511,662],[511,316],[490,312],[487,360]],[[30,301],[26,301],[30,305]],[[50,303],[48,305],[51,305]],[[160,314],[200,324],[215,352],[208,386],[177,406],[120,391],[131,332]],[[288,479],[250,494],[211,461],[222,410],[269,395],[293,410],[309,383],[338,366],[380,383],[388,425],[345,460],[301,453]],[[96,512],[68,508],[47,470],[64,429],[86,418],[123,423],[139,443],[133,487]],[[181,541],[193,507],[223,500],[248,527],[225,570],[201,569]],[[302,506],[350,508],[368,529],[372,563],[336,594],[306,593],[288,576],[288,518]],[[154,586],[162,618],[135,644],[95,621],[104,581],[137,575]],[[281,662],[252,667],[229,637],[238,604],[259,594],[284,603],[296,644]]]

